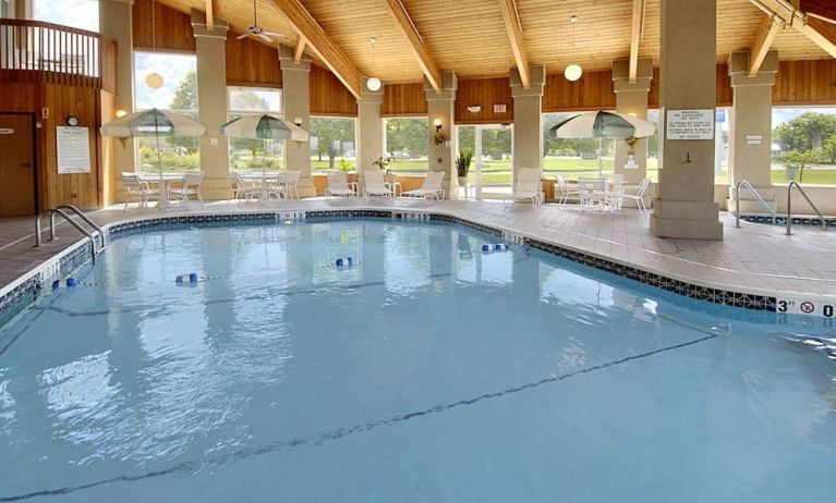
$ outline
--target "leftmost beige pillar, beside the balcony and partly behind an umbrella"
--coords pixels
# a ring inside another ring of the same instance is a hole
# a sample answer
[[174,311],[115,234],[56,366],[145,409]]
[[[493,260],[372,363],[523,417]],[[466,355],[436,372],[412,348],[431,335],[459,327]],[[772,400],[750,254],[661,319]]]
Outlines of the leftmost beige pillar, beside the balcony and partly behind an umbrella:
[[[133,0],[100,0],[99,26],[101,36],[113,40],[118,49],[113,116],[102,116],[105,123],[116,119],[120,110],[125,113],[134,111]],[[101,139],[102,149],[107,151],[105,158],[108,159],[104,167],[104,204],[109,205],[124,200],[124,187],[119,183],[120,173],[136,171],[136,144],[132,139]]]

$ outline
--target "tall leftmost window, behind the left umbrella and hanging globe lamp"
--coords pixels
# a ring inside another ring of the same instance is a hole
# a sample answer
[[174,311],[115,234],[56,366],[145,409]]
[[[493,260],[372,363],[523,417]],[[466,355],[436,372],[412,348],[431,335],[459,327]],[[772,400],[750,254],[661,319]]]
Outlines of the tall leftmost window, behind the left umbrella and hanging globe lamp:
[[[192,54],[153,52],[134,53],[136,110],[158,108],[171,110],[197,120],[197,59]],[[162,75],[162,87],[148,87],[145,77],[153,73]],[[140,168],[157,170],[157,142],[155,138],[137,138]],[[194,137],[160,137],[163,171],[198,170],[201,155],[198,140]]]

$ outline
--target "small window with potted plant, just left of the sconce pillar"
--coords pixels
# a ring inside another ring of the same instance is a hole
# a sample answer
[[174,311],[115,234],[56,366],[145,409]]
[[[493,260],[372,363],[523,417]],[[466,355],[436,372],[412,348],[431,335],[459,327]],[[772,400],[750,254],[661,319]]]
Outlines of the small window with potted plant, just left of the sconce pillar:
[[427,118],[384,119],[384,151],[396,173],[425,173],[429,169]]

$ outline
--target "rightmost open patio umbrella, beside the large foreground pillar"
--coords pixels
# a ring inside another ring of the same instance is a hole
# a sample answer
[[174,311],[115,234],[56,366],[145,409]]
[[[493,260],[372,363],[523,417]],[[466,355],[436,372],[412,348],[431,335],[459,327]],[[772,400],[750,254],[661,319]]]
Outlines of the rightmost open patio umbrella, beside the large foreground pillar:
[[632,115],[597,110],[571,116],[552,127],[550,131],[558,138],[598,138],[598,176],[601,176],[604,169],[601,159],[602,138],[644,138],[653,135],[656,125]]

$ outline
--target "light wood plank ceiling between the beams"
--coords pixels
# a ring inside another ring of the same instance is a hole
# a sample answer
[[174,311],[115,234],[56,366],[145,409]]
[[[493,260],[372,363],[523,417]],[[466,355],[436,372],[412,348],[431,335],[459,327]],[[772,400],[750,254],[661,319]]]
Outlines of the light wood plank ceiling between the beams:
[[[157,0],[189,12],[206,9],[207,0]],[[213,0],[215,15],[235,34],[252,24],[251,0]],[[295,1],[295,0],[292,0]],[[420,34],[427,54],[440,71],[460,78],[507,76],[514,53],[497,0],[400,0]],[[257,0],[258,24],[284,35],[281,44],[296,46],[294,25],[275,0]],[[354,69],[385,83],[422,79],[408,37],[389,12],[387,0],[299,0]],[[585,71],[609,69],[614,59],[630,54],[633,0],[516,0],[529,64],[562,72],[578,61]],[[639,56],[659,53],[659,2],[646,0]],[[577,15],[574,49],[569,16]],[[750,0],[717,0],[717,61],[752,47],[766,15]],[[372,49],[369,38],[378,42]],[[828,53],[800,32],[777,33],[772,48],[782,60],[827,59]],[[310,50],[310,49],[308,49]],[[573,56],[574,53],[574,56]],[[315,54],[314,56],[318,56]],[[316,58],[318,59],[318,58]],[[658,61],[657,61],[658,64]]]

